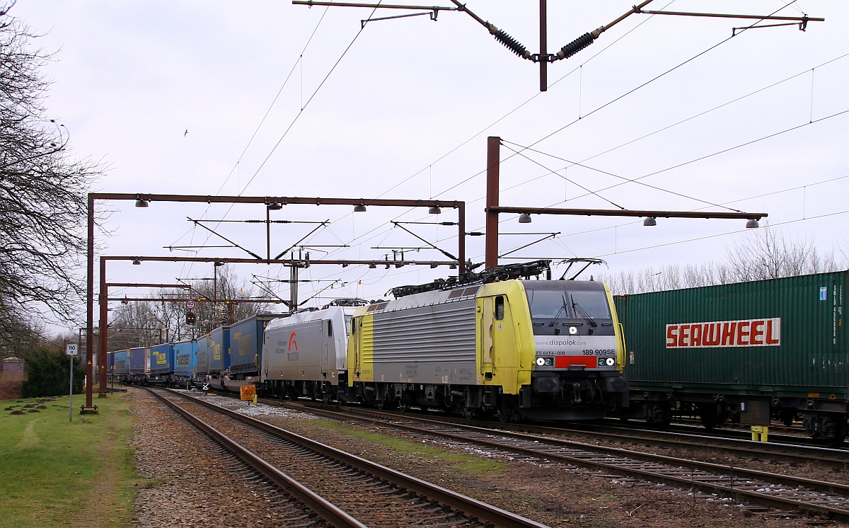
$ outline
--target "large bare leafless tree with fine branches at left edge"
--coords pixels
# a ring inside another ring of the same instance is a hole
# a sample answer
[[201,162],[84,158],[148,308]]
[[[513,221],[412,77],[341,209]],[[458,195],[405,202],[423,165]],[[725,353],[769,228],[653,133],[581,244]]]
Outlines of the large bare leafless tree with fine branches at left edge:
[[0,7],[0,352],[31,332],[32,313],[80,315],[87,193],[97,164],[70,159],[68,135],[45,115],[53,55]]

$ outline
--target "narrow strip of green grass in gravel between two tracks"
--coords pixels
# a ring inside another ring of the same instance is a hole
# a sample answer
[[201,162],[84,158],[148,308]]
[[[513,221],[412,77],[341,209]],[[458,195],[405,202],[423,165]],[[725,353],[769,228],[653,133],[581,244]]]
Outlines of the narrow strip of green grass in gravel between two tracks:
[[389,447],[396,452],[412,453],[419,457],[440,460],[469,475],[498,475],[507,469],[506,464],[496,460],[479,458],[460,452],[446,451],[445,449],[430,443],[425,444],[420,441],[414,442],[403,440],[396,436],[360,430],[329,420],[310,420],[307,423],[318,425],[318,427],[332,429],[345,435],[355,436],[366,441],[372,441],[376,444],[380,444],[381,446]]

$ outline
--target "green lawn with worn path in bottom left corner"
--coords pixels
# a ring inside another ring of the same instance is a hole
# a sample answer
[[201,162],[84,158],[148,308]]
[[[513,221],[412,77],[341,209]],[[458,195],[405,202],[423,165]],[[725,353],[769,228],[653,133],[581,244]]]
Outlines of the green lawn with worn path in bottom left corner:
[[127,525],[138,479],[126,395],[95,399],[100,414],[84,417],[75,395],[73,422],[68,397],[50,399],[23,415],[2,409],[38,398],[0,401],[0,528]]

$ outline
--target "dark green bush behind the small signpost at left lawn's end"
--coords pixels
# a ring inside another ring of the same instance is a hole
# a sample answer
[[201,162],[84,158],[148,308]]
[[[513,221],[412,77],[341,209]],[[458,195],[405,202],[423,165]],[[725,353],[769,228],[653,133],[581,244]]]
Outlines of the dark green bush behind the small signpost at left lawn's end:
[[[37,398],[68,394],[70,360],[64,352],[39,347],[24,354],[26,380],[20,386],[21,396]],[[74,358],[74,392],[82,392],[86,368],[79,357]]]

